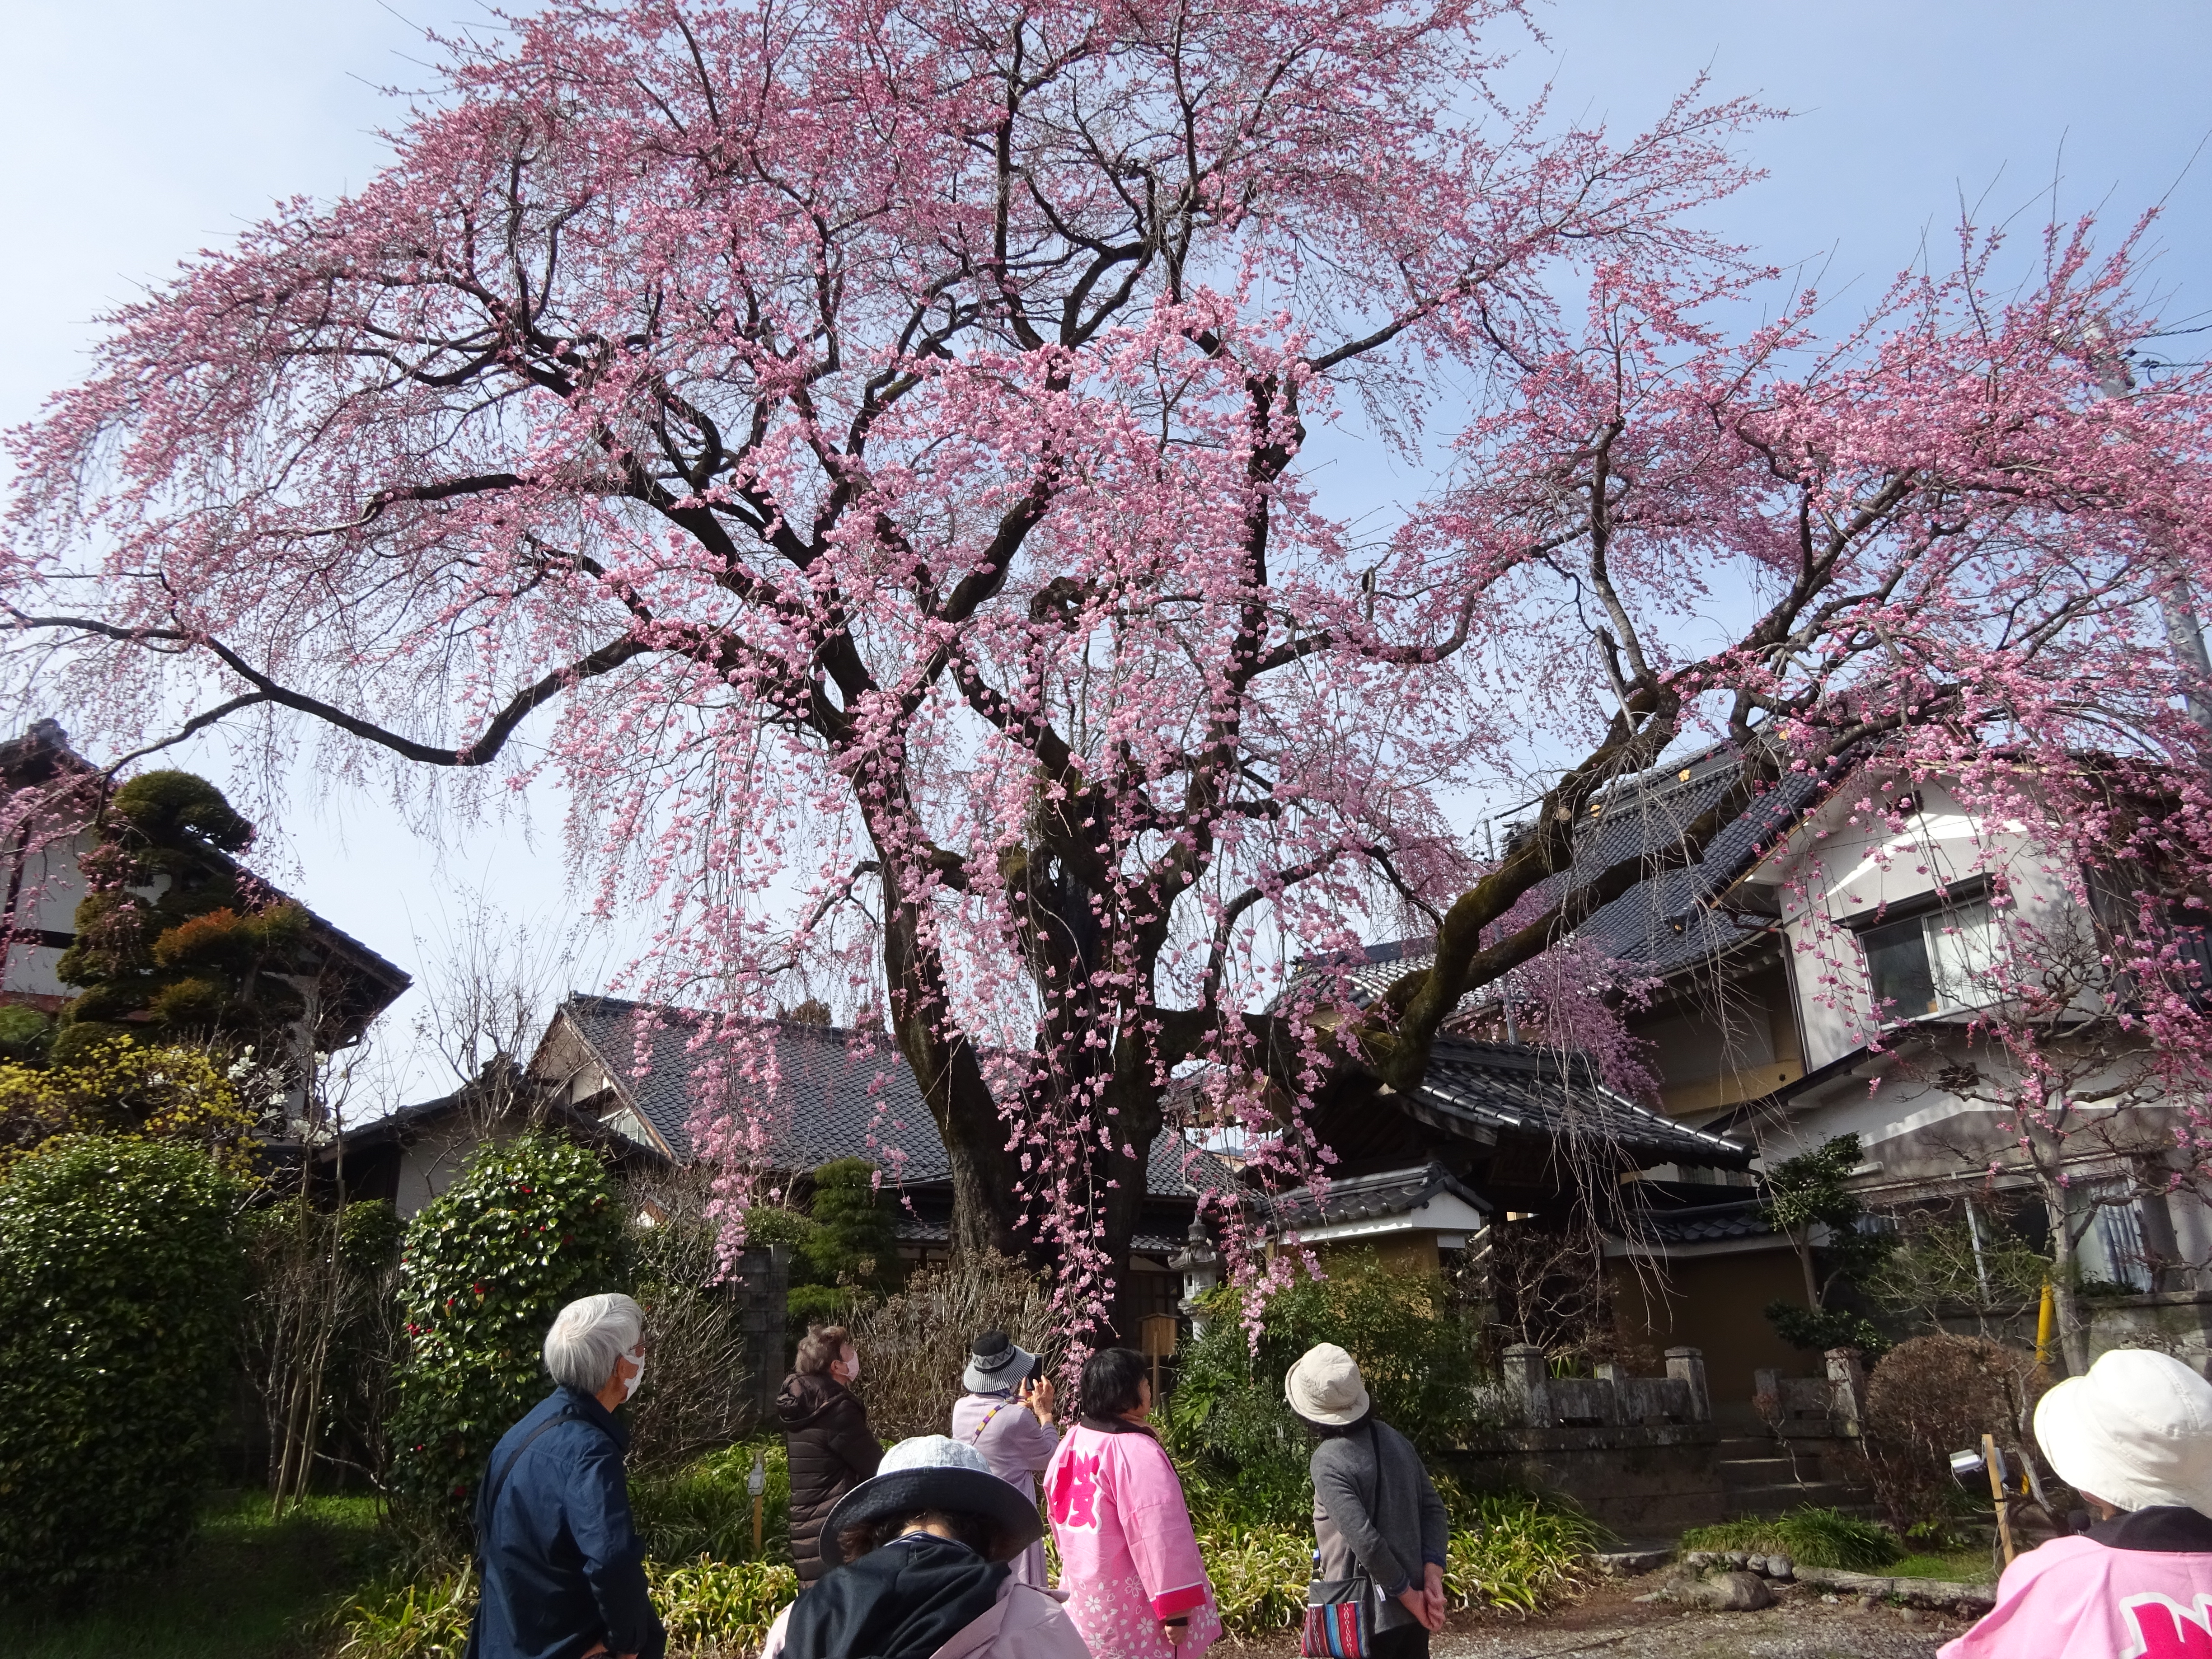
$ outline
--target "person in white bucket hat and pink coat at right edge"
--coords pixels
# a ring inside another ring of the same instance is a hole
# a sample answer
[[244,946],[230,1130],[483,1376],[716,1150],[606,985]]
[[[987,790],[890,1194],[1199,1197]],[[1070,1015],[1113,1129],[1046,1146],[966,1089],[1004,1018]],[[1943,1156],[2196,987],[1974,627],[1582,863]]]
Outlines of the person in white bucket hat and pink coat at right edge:
[[2117,1349],[2042,1398],[2035,1444],[2099,1520],[2013,1562],[1940,1659],[2212,1655],[2212,1383]]

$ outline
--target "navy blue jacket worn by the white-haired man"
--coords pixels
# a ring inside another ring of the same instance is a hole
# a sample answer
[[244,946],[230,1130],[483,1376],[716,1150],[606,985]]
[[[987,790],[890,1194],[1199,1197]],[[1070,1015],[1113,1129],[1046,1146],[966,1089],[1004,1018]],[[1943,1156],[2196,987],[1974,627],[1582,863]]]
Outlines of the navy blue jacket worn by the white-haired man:
[[[529,1440],[538,1425],[562,1416]],[[524,1440],[529,1447],[491,1493]],[[646,1546],[630,1524],[622,1473],[628,1444],[613,1413],[580,1389],[555,1389],[500,1438],[476,1489],[476,1659],[577,1659],[599,1641],[644,1659],[668,1650],[646,1597]]]

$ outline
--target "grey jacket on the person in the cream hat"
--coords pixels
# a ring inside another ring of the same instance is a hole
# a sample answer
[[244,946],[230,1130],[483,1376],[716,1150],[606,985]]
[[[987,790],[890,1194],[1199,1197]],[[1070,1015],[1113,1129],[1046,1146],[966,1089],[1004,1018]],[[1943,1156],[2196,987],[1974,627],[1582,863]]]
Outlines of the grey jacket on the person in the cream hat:
[[[1376,1453],[1383,1458],[1378,1511]],[[1427,1562],[1444,1564],[1451,1515],[1436,1495],[1413,1442],[1387,1422],[1369,1418],[1349,1433],[1334,1433],[1314,1447],[1314,1542],[1316,1577],[1352,1577],[1354,1557],[1376,1582],[1383,1606],[1376,1630],[1413,1624],[1396,1599],[1420,1588]]]

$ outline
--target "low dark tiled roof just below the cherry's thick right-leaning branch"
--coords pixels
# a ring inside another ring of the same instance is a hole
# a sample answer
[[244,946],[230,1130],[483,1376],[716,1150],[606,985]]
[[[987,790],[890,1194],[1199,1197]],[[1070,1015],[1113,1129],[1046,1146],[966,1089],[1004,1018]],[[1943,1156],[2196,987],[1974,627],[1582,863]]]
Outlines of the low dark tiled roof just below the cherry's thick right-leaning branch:
[[1604,1088],[1582,1055],[1524,1044],[1438,1037],[1413,1113],[1447,1133],[1473,1130],[1471,1139],[1582,1139],[1646,1164],[1697,1168],[1741,1170],[1752,1161],[1747,1146],[1683,1128],[1672,1117]]

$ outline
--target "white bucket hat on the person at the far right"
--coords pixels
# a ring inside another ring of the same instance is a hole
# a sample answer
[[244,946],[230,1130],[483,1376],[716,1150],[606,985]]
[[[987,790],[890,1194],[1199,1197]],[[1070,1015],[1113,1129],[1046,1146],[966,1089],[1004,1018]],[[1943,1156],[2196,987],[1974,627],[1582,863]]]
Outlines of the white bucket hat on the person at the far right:
[[2172,1354],[2124,1347],[2035,1407],[2059,1480],[2119,1509],[2212,1515],[2212,1383]]

